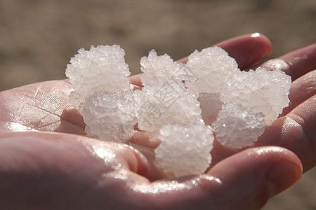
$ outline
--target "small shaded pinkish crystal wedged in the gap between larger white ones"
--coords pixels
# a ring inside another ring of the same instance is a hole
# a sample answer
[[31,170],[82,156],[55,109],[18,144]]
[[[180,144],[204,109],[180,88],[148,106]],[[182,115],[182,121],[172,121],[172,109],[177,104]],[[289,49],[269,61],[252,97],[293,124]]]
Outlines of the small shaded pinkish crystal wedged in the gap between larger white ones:
[[220,101],[219,93],[201,92],[197,101],[201,104],[202,119],[205,125],[211,125],[215,122],[218,112],[222,109],[223,102]]

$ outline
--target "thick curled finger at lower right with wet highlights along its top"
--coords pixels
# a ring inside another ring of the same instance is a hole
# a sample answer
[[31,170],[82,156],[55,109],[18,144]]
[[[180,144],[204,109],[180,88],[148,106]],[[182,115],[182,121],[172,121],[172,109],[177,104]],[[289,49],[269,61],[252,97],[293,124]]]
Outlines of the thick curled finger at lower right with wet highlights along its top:
[[296,183],[301,172],[300,160],[284,148],[251,148],[207,174],[131,188],[142,207],[153,209],[258,209]]

